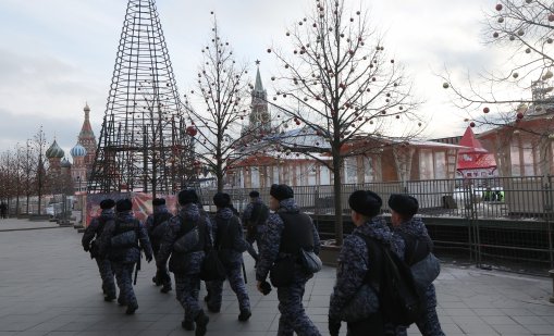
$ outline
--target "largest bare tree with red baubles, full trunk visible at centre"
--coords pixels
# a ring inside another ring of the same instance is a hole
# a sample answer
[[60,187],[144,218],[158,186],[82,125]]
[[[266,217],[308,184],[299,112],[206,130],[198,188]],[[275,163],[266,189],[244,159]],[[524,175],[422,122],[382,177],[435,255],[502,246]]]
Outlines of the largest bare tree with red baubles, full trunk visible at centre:
[[356,146],[345,150],[346,145],[414,136],[418,103],[402,66],[386,55],[384,41],[370,27],[361,4],[350,12],[344,0],[316,1],[286,36],[291,40],[286,50],[268,49],[282,66],[271,78],[278,80],[273,101],[296,125],[329,145],[325,151],[332,161],[320,162],[333,174],[335,242],[342,245],[344,159],[368,151]]

